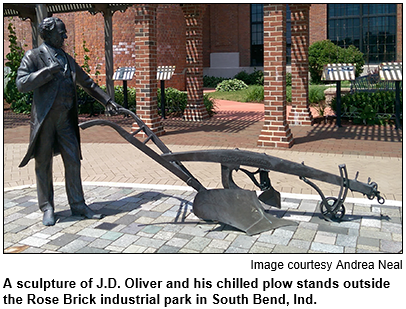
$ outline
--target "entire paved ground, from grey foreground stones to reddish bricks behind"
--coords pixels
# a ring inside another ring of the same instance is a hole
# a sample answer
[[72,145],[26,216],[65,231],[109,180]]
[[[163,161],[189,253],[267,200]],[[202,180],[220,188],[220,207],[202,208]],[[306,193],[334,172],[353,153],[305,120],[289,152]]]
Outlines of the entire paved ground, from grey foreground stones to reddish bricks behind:
[[[316,192],[297,177],[271,172],[272,185],[284,197],[278,216],[298,222],[249,237],[229,226],[201,222],[191,212],[195,193],[109,127],[81,131],[82,179],[88,204],[107,216],[83,220],[70,216],[63,164],[54,160],[59,222],[44,227],[36,204],[34,164],[18,168],[29,136],[29,118],[4,113],[4,249],[5,252],[399,252],[402,246],[402,131],[321,122],[292,126],[291,149],[257,148],[263,125],[260,104],[220,109],[194,123],[165,120],[161,137],[173,151],[240,148],[285,158],[334,174],[345,163],[351,178],[371,177],[387,199],[384,205],[349,194],[341,223],[322,220]],[[247,110],[248,109],[248,110]],[[123,127],[132,121],[112,117]],[[88,120],[81,117],[80,121]],[[186,167],[208,188],[220,188],[220,167],[189,163]],[[236,182],[255,190],[246,176]],[[59,184],[61,183],[61,184]],[[318,183],[326,195],[338,188]]]

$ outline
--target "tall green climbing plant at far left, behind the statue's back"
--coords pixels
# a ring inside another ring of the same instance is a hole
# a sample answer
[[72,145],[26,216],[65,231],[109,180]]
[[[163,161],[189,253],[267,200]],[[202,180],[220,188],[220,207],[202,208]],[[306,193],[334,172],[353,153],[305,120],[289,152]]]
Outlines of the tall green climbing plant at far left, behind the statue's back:
[[8,81],[4,89],[4,99],[7,103],[11,104],[11,109],[14,112],[28,114],[31,111],[32,92],[21,93],[18,91],[16,85],[17,70],[24,57],[24,49],[18,44],[18,38],[13,23],[10,22],[7,28],[9,31],[10,52],[6,55],[8,61],[5,65],[10,71],[5,76]]

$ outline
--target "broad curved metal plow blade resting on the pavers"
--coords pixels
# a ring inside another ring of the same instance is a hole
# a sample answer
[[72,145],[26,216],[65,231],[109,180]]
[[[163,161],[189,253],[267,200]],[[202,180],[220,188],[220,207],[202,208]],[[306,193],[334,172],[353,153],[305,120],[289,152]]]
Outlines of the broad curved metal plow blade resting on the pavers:
[[197,193],[193,212],[204,220],[220,221],[248,235],[255,235],[281,226],[297,225],[267,213],[254,191],[214,189]]

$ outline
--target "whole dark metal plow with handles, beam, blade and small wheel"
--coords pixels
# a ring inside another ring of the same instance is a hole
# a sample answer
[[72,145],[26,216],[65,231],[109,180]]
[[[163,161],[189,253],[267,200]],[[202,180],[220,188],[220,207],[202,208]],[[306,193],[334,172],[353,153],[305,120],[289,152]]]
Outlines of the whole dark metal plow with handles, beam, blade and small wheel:
[[[320,211],[329,221],[340,221],[345,214],[344,201],[347,191],[355,191],[366,195],[369,199],[377,200],[383,204],[385,200],[380,196],[378,185],[375,182],[359,182],[357,176],[354,180],[348,179],[345,165],[340,165],[340,176],[317,170],[303,163],[280,159],[251,151],[239,149],[229,150],[201,150],[172,153],[168,147],[151,131],[151,129],[133,112],[119,108],[118,114],[131,116],[139,129],[127,132],[118,124],[108,120],[90,120],[80,124],[82,129],[95,125],[107,125],[116,130],[125,140],[137,147],[144,154],[161,164],[198,193],[193,202],[193,212],[203,220],[219,221],[240,230],[248,235],[262,233],[286,225],[297,225],[291,220],[280,219],[269,214],[264,206],[281,208],[280,193],[276,191],[269,178],[270,171],[298,176],[305,183],[313,187],[321,197]],[[147,138],[140,141],[136,135],[143,132]],[[152,141],[162,152],[158,154],[146,144]],[[181,163],[182,161],[213,162],[221,164],[221,177],[224,189],[206,189]],[[258,170],[250,172],[241,166],[254,167]],[[244,172],[259,187],[262,193],[257,197],[255,191],[244,190],[234,182],[233,171]],[[256,175],[259,174],[259,181]],[[320,188],[312,181],[314,179],[340,186],[338,197],[325,197]]]

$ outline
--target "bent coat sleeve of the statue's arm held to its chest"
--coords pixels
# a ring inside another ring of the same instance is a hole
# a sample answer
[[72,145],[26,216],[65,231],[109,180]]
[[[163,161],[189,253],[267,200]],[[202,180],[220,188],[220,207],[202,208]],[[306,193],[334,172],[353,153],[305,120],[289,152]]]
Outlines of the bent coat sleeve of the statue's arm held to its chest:
[[37,69],[34,62],[35,54],[32,50],[25,53],[21,65],[17,70],[17,89],[29,92],[45,85],[52,80],[53,75],[47,67]]

